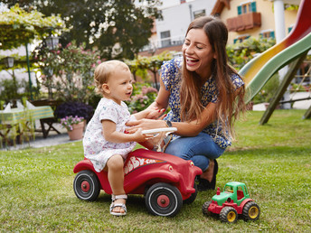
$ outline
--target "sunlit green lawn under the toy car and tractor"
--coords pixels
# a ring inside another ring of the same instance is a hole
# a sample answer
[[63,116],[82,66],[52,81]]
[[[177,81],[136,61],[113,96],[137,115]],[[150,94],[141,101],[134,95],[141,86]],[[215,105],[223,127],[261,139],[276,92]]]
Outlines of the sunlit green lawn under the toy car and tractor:
[[258,221],[223,224],[203,216],[216,191],[199,192],[174,218],[150,215],[142,196],[130,195],[124,218],[108,213],[110,197],[78,200],[72,190],[81,143],[0,152],[0,231],[22,232],[257,232],[311,231],[311,121],[302,110],[276,110],[259,126],[262,112],[237,123],[238,140],[218,160],[217,185],[245,182],[259,204]]

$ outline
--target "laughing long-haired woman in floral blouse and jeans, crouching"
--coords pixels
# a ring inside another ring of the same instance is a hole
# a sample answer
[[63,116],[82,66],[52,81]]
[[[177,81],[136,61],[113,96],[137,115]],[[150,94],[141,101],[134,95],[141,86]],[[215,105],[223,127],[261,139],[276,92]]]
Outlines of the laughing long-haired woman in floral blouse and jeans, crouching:
[[164,120],[127,124],[133,132],[139,127],[176,127],[165,153],[192,160],[202,169],[199,191],[215,188],[215,159],[231,145],[234,119],[245,109],[244,82],[227,63],[227,40],[228,30],[217,18],[204,16],[190,23],[184,56],[162,66],[159,93],[150,106],[170,107],[170,112]]

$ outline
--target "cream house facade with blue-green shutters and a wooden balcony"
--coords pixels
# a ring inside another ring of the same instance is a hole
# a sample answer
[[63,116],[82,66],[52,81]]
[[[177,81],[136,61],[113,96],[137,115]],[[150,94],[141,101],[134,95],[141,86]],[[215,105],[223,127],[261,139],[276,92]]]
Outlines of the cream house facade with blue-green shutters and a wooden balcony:
[[[278,0],[283,5],[286,3],[299,4],[300,1]],[[278,22],[282,15],[277,15],[277,8],[274,1],[270,0],[217,0],[212,9],[212,14],[218,15],[227,24],[229,30],[228,43],[241,42],[244,39],[254,36],[259,38],[273,37],[277,34],[285,37],[297,19],[297,9],[284,5],[280,11],[284,14],[283,28],[278,31]],[[282,6],[280,6],[282,7]],[[287,9],[286,9],[287,8]],[[283,31],[284,32],[281,32]],[[278,32],[277,32],[278,31]],[[278,40],[277,40],[278,41]]]

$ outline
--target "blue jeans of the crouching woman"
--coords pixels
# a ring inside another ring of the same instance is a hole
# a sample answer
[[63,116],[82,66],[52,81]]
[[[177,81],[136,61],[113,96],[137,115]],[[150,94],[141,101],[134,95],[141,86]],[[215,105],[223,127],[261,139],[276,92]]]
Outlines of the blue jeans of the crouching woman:
[[209,167],[210,159],[217,159],[224,151],[225,149],[215,144],[211,136],[205,133],[193,137],[178,137],[165,149],[166,154],[192,160],[203,172]]

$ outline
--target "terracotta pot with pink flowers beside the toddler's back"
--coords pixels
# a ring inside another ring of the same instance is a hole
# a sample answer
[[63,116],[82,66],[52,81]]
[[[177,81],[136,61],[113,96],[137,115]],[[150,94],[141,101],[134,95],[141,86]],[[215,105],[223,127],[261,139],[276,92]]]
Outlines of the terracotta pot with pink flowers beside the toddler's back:
[[80,140],[83,137],[84,117],[65,116],[61,118],[61,126],[65,127],[72,140]]

